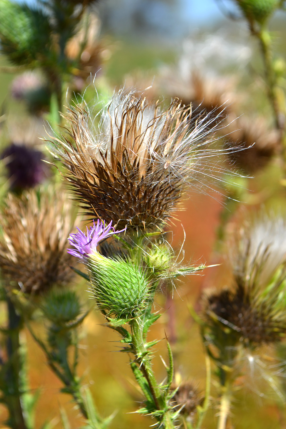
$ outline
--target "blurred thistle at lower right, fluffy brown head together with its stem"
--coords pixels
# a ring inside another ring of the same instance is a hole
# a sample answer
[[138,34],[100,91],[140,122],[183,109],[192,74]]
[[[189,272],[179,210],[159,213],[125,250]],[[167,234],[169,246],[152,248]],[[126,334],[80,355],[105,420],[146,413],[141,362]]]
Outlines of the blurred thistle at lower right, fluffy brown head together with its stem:
[[233,288],[204,297],[202,335],[221,385],[218,428],[226,427],[234,382],[259,347],[286,335],[285,221],[261,219],[244,227],[230,252]]

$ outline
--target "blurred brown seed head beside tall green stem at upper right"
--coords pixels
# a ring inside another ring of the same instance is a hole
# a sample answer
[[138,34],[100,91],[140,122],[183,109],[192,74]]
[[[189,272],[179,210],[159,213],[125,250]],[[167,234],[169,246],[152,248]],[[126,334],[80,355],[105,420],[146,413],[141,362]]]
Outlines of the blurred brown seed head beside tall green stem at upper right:
[[231,122],[233,131],[228,134],[227,144],[240,146],[243,151],[230,152],[229,158],[240,169],[252,174],[262,168],[279,150],[279,133],[269,130],[262,118],[249,120],[245,117]]

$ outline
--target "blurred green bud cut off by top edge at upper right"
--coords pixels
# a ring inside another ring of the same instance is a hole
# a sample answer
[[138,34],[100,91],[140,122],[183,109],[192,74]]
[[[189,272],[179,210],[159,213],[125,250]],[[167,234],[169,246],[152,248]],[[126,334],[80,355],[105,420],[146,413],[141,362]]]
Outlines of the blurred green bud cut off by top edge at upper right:
[[237,0],[237,3],[246,19],[263,24],[277,9],[279,0]]

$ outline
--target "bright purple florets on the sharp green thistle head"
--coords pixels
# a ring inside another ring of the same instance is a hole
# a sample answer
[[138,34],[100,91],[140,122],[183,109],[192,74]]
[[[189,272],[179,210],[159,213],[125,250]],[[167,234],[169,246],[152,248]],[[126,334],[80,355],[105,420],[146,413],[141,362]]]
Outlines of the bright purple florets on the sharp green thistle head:
[[126,230],[125,227],[123,230],[115,231],[111,224],[112,221],[108,225],[105,225],[105,221],[100,221],[99,219],[97,220],[97,224],[93,221],[93,227],[91,226],[89,229],[86,227],[86,235],[76,227],[78,233],[70,234],[70,238],[68,239],[75,249],[67,249],[67,253],[79,259],[85,259],[89,254],[97,252],[96,247],[101,240]]

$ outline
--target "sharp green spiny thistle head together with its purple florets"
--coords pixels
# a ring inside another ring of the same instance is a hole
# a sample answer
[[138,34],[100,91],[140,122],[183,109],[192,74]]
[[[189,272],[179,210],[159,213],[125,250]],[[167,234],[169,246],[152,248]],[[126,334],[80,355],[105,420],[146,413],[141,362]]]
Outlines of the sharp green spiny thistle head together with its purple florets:
[[148,291],[146,276],[137,266],[120,257],[106,258],[97,252],[98,243],[122,233],[115,231],[105,221],[93,221],[93,226],[86,228],[86,235],[79,230],[70,234],[70,244],[76,249],[67,249],[68,253],[81,259],[88,269],[91,282],[92,298],[98,308],[107,315],[130,317],[140,311]]

